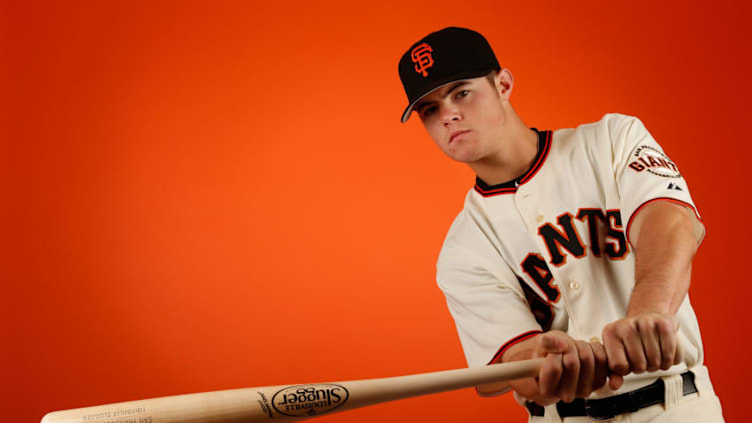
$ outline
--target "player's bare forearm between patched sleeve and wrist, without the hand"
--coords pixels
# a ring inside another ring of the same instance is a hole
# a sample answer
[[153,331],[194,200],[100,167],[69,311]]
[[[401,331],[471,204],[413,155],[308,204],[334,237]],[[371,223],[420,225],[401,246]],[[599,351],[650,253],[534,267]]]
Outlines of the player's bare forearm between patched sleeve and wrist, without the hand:
[[689,290],[697,251],[693,217],[684,207],[658,201],[635,218],[635,288],[627,316],[675,314]]

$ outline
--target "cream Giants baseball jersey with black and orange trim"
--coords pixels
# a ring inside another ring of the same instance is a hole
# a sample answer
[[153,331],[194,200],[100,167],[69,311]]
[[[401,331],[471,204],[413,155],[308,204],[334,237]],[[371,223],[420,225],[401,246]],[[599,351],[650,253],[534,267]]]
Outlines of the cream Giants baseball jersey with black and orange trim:
[[[623,318],[634,287],[628,228],[653,201],[688,206],[702,239],[704,227],[677,165],[640,120],[619,114],[538,131],[538,154],[524,175],[494,186],[478,179],[437,262],[468,364],[491,363],[514,343],[550,329],[599,339],[605,325]],[[702,366],[688,297],[677,317],[685,362],[629,375],[618,392]],[[592,397],[613,395],[604,389]]]

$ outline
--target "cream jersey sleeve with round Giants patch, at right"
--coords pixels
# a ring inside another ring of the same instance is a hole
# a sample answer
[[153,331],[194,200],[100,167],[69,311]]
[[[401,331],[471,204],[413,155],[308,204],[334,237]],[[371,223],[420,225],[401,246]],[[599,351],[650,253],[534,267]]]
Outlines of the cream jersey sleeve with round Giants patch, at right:
[[627,237],[634,217],[654,201],[688,207],[694,217],[695,237],[701,241],[705,227],[679,167],[636,117],[606,115],[613,148],[613,169],[621,200]]

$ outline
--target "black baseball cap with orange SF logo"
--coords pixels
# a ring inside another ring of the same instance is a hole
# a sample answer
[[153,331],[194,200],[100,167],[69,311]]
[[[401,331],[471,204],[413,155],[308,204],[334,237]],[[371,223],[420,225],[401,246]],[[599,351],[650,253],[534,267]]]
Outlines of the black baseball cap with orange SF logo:
[[415,103],[436,88],[500,69],[488,41],[473,30],[448,27],[426,35],[400,59],[400,79],[409,103],[402,122]]

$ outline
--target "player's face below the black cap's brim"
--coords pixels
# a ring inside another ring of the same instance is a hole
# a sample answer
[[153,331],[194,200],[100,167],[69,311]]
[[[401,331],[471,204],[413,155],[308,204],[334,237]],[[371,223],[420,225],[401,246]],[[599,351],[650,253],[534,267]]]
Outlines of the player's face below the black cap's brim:
[[486,77],[465,79],[437,88],[416,104],[423,126],[447,156],[473,163],[496,152],[505,120],[497,86]]

